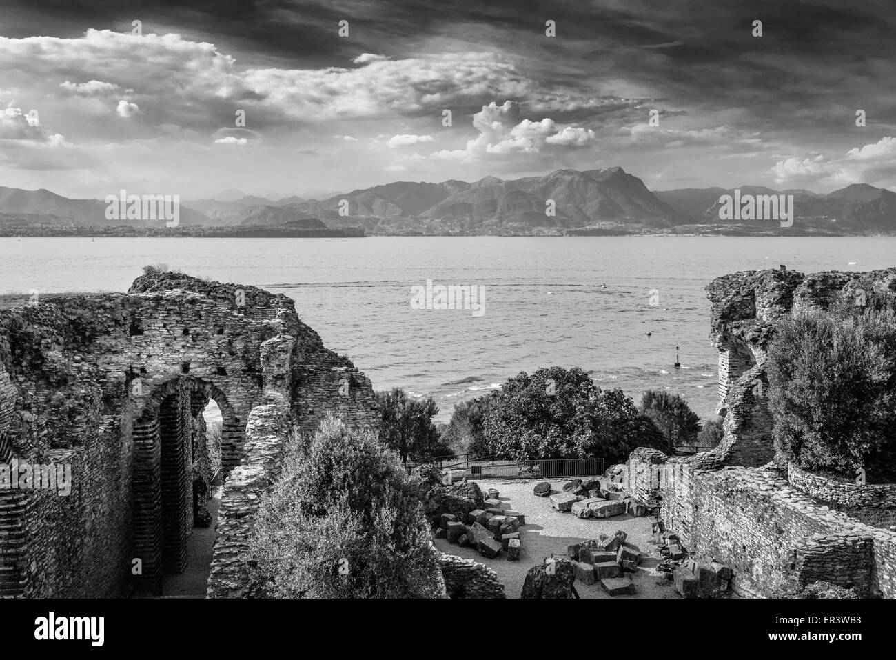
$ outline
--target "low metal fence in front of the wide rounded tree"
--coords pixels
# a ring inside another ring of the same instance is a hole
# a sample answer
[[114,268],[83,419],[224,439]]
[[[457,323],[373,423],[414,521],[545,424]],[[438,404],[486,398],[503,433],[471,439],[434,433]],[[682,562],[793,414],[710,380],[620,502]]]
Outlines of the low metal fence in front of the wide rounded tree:
[[604,473],[603,458],[530,458],[512,460],[452,456],[425,463],[405,465],[408,471],[417,465],[436,465],[451,475],[452,481],[468,479],[555,479],[559,477],[599,476]]

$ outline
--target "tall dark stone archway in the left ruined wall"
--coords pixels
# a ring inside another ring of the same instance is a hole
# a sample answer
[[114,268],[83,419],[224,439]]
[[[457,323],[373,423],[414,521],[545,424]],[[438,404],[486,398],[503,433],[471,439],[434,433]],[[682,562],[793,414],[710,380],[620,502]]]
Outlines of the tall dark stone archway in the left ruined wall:
[[228,395],[202,378],[182,375],[156,386],[134,420],[134,558],[142,564],[141,591],[159,593],[165,573],[186,568],[186,540],[195,515],[195,451],[205,450],[204,439],[199,447],[195,442],[197,415],[211,398],[220,406],[232,442],[242,421]]

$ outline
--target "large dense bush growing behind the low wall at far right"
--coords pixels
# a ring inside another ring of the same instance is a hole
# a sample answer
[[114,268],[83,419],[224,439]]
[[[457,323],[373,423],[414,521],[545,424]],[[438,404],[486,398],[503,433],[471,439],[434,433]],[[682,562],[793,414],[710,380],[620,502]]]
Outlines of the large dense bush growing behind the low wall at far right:
[[[870,289],[869,289],[870,291]],[[896,315],[869,296],[778,326],[769,348],[775,443],[800,467],[852,481],[896,477]]]

